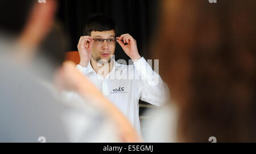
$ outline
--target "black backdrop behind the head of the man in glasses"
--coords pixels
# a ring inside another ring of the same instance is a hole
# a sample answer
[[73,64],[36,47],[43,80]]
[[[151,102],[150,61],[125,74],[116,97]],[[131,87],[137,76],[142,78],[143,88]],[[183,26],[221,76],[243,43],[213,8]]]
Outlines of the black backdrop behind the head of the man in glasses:
[[[159,5],[158,0],[61,0],[57,19],[69,36],[70,50],[77,50],[86,17],[91,13],[107,15],[117,23],[119,35],[130,33],[137,40],[139,53],[147,59],[149,44],[158,27]],[[127,63],[130,59],[118,44],[115,59],[125,59]]]

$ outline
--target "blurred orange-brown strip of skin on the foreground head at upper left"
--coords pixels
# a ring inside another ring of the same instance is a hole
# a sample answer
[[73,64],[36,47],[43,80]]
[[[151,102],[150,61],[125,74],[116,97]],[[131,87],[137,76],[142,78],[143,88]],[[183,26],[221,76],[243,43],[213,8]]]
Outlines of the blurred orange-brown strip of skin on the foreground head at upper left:
[[28,49],[34,49],[40,44],[51,29],[56,7],[55,0],[47,0],[46,3],[35,3],[19,37],[20,45]]

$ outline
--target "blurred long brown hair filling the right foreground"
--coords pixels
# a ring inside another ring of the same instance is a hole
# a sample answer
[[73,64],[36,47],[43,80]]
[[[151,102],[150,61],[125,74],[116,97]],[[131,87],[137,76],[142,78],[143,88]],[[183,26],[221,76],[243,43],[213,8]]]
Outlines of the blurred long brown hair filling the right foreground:
[[256,142],[256,1],[163,0],[152,57],[180,109],[180,142]]

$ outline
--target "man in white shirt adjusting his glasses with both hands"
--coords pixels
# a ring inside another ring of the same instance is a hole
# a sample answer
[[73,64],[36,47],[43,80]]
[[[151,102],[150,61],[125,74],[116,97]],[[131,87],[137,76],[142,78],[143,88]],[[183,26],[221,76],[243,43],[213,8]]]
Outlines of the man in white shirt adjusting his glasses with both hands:
[[[115,62],[116,42],[134,65]],[[136,40],[128,33],[117,37],[117,25],[112,19],[94,15],[87,20],[77,48],[80,54],[77,69],[92,80],[141,134],[139,100],[160,106],[168,100],[169,91],[160,76],[139,55]]]

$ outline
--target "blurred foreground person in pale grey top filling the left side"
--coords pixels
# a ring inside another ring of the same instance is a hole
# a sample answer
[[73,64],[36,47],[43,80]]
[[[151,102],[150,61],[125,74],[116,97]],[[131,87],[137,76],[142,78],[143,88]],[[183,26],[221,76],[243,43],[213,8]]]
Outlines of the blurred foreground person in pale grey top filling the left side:
[[[56,7],[54,0],[0,2],[0,142],[138,142],[75,64],[61,65],[65,40],[52,29]],[[63,90],[85,101],[60,99]]]

